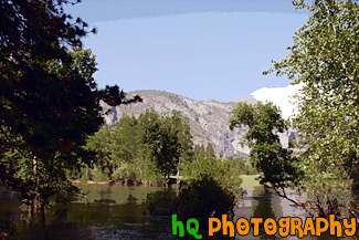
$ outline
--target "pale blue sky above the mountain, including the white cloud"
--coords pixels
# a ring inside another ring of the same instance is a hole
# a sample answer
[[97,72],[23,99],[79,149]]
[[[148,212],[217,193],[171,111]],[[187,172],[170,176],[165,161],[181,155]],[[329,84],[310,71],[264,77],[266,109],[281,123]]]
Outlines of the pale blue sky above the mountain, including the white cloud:
[[253,96],[292,106],[286,77],[262,73],[289,52],[308,13],[291,0],[83,0],[66,8],[97,34],[84,42],[96,55],[99,87],[163,90],[203,101]]

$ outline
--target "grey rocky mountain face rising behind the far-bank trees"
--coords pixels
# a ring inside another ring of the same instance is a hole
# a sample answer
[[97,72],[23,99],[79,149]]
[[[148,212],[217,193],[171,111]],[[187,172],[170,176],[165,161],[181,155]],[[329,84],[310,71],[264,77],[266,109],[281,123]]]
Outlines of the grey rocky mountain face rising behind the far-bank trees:
[[[244,154],[250,153],[250,148],[241,144],[244,134],[247,132],[247,127],[242,126],[230,131],[228,122],[231,116],[231,109],[236,106],[236,103],[246,102],[254,104],[256,100],[252,97],[240,97],[228,103],[221,103],[214,100],[194,101],[173,93],[154,90],[130,92],[127,94],[127,97],[130,98],[135,95],[139,95],[144,100],[142,103],[116,107],[110,107],[102,103],[104,111],[112,108],[112,112],[105,115],[106,124],[113,125],[124,113],[138,116],[148,108],[154,108],[159,113],[179,111],[190,121],[194,144],[203,144],[207,146],[208,143],[211,143],[219,157],[229,157],[237,152]],[[287,146],[288,139],[294,134],[293,131],[279,134],[282,144]]]

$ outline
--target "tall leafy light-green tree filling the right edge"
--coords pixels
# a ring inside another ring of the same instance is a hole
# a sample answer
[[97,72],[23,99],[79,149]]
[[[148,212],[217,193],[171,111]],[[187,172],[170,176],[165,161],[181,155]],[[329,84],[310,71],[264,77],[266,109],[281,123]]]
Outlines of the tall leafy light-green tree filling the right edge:
[[359,186],[359,7],[355,0],[294,1],[312,17],[296,33],[291,53],[267,73],[287,75],[300,84],[299,153],[313,215],[352,215]]

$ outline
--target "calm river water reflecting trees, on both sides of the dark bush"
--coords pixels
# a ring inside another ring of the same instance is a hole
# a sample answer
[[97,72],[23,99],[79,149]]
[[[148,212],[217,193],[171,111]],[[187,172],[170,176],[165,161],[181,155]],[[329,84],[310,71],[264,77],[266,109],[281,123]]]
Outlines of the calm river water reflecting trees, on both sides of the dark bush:
[[[46,225],[21,212],[17,196],[0,197],[0,232],[12,232],[9,239],[178,239],[171,236],[171,204],[175,189],[126,187],[118,185],[81,185],[85,197],[65,206],[55,206],[46,215]],[[262,187],[245,188],[239,199],[235,218],[302,217],[299,209]],[[263,232],[262,232],[263,233]],[[215,238],[209,238],[215,239]],[[277,236],[236,239],[282,239]],[[287,239],[297,239],[288,237]],[[328,238],[325,238],[328,239]]]

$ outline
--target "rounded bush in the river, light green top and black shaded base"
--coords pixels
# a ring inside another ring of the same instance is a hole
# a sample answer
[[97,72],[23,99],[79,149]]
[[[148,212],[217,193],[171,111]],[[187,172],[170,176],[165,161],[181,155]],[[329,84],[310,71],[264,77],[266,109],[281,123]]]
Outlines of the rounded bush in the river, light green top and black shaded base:
[[203,226],[208,226],[210,217],[229,215],[232,219],[235,196],[243,194],[234,161],[197,153],[181,164],[182,179],[175,208],[179,218],[196,217]]

